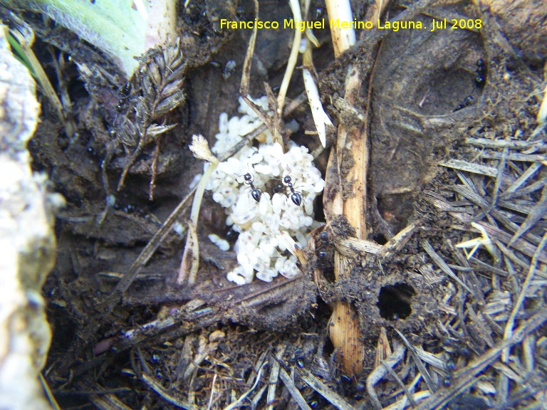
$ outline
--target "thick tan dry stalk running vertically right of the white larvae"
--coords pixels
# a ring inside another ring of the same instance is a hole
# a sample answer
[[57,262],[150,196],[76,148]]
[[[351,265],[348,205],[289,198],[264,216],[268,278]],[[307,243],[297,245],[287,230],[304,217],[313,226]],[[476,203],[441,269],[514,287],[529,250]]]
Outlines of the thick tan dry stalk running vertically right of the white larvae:
[[[340,21],[351,21],[353,19],[349,1],[326,1],[329,19],[339,19]],[[355,43],[355,32],[348,29],[331,30],[333,38],[334,54],[340,56]],[[352,70],[349,67],[347,85],[345,88],[345,100],[355,105],[357,102],[358,91],[361,84],[359,70]],[[342,152],[346,141],[351,142],[353,159],[355,165],[347,176],[348,181],[353,181],[352,198],[343,200],[343,186],[340,179],[340,162]],[[331,177],[338,177],[338,189],[335,196],[331,199],[325,196],[325,217],[327,222],[334,216],[344,214],[348,222],[355,228],[356,236],[360,239],[366,237],[367,227],[365,224],[365,215],[363,209],[367,209],[367,167],[368,167],[368,147],[366,144],[367,136],[365,123],[346,127],[343,124],[338,126],[338,143],[335,149],[330,152],[328,159],[326,181],[332,181]],[[327,191],[328,189],[325,189]],[[348,273],[344,266],[345,257],[335,251],[334,273],[338,280]],[[365,358],[365,347],[360,340],[358,317],[355,310],[347,302],[335,303],[333,315],[330,317],[329,327],[330,340],[335,348],[339,348],[342,353],[342,368],[349,375],[359,374],[363,370],[363,359]]]

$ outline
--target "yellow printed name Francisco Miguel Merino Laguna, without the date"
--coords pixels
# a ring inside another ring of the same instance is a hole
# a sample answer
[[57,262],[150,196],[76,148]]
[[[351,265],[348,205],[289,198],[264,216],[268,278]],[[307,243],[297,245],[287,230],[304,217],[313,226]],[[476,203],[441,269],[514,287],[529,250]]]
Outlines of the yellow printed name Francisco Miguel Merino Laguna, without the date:
[[[254,29],[256,26],[257,29],[262,28],[280,28],[280,24],[278,21],[267,21],[267,20],[259,20],[254,19],[251,21],[233,21],[233,20],[226,20],[226,19],[220,19],[220,28],[228,28],[228,29],[238,29],[238,28],[244,28],[244,29]],[[329,20],[329,26],[330,28],[357,28],[359,30],[363,29],[371,29],[374,28],[374,23],[372,21],[358,21],[357,19],[353,19],[353,21],[343,21],[338,19],[330,19]],[[305,31],[306,28],[325,28],[325,19],[316,20],[316,21],[296,21],[294,19],[284,19],[283,20],[283,28],[291,28],[294,30],[295,28],[298,31]],[[392,31],[399,31],[400,28],[424,28],[421,21],[385,21],[382,23],[380,20],[378,20],[377,28],[380,29],[386,29],[386,30],[392,30]]]

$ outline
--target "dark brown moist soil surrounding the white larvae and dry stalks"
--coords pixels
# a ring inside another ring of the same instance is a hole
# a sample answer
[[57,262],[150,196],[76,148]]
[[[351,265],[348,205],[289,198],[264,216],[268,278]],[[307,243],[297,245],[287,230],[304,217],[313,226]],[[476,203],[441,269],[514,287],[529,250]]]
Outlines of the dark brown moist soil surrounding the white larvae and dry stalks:
[[[325,8],[319,3],[313,2],[312,10]],[[354,6],[357,13],[364,13],[362,4]],[[390,16],[402,10],[394,6]],[[277,1],[261,1],[260,13],[272,21],[291,16],[288,4]],[[419,14],[415,21],[427,26],[432,16],[477,13],[472,6],[457,4],[434,9],[433,14]],[[202,162],[194,159],[187,149],[192,135],[199,133],[214,142],[219,114],[236,115],[241,70],[251,31],[221,31],[216,27],[218,16],[253,19],[252,2],[191,1],[188,9],[181,7],[178,26],[182,53],[187,57],[186,100],[165,115],[165,122],[176,123],[177,127],[143,149],[129,169],[125,186],[115,193],[115,206],[102,222],[100,214],[105,208],[106,194],[101,165],[107,144],[113,138],[109,120],[115,115],[124,81],[92,89],[89,83],[83,84],[78,79],[75,67],[68,65],[65,74],[70,78],[69,93],[78,126],[77,135],[71,138],[63,134],[63,127],[48,102],[42,101],[41,124],[28,148],[34,169],[46,172],[52,189],[63,194],[67,201],[66,209],[58,214],[56,221],[56,268],[49,275],[43,293],[50,306],[49,320],[54,331],[46,374],[63,408],[92,402],[97,406],[96,401],[88,401],[87,393],[103,390],[105,397],[111,399],[115,395],[133,409],[174,406],[172,401],[167,404],[165,397],[160,398],[152,384],[142,382],[142,374],[146,374],[161,384],[168,396],[185,402],[193,394],[200,409],[207,407],[216,383],[214,389],[219,396],[213,407],[221,409],[249,389],[258,372],[259,358],[264,354],[282,358],[288,364],[287,370],[308,369],[346,400],[366,408],[370,402],[364,383],[375,366],[374,352],[382,328],[390,337],[397,328],[412,345],[429,346],[434,352],[439,352],[444,343],[437,330],[437,323],[444,315],[439,305],[452,293],[455,283],[442,272],[426,277],[420,270],[429,261],[420,246],[422,241],[428,241],[447,263],[457,263],[454,248],[447,244],[447,238],[452,238],[452,243],[460,241],[454,221],[422,198],[426,189],[446,194],[444,186],[457,180],[453,171],[437,167],[437,163],[449,157],[471,160],[469,149],[461,144],[465,136],[479,137],[492,132],[513,135],[517,129],[535,124],[539,100],[528,100],[529,105],[522,102],[535,90],[538,67],[507,56],[487,25],[480,33],[390,32],[374,45],[378,48],[373,67],[360,61],[360,56],[370,53],[368,33],[359,33],[358,45],[333,61],[328,29],[316,31],[322,47],[314,51],[314,63],[320,73],[323,102],[336,125],[345,119],[330,105],[330,97],[343,95],[348,63],[354,63],[355,69],[365,74],[363,105],[356,108],[368,111],[370,118],[371,190],[370,209],[366,210],[372,226],[369,239],[386,243],[411,222],[417,225],[412,237],[389,258],[360,254],[352,274],[335,282],[333,241],[350,236],[350,229],[340,220],[341,225],[330,231],[325,258],[318,258],[308,250],[310,261],[302,267],[301,278],[279,277],[272,283],[256,280],[238,287],[226,280],[226,272],[236,264],[235,254],[219,251],[207,240],[209,233],[226,236],[229,229],[224,225],[223,209],[206,193],[198,230],[201,265],[197,285],[187,288],[176,284],[184,238],[171,231],[150,261],[140,267],[130,287],[123,293],[113,293],[162,222],[187,196],[194,176],[202,172]],[[71,53],[75,61],[96,61],[95,51],[93,55],[86,54],[91,53],[89,46],[74,45],[68,33],[43,26],[31,14],[28,18],[36,23],[42,41],[58,47],[57,56],[62,49]],[[363,16],[358,15],[358,19]],[[259,31],[250,95],[264,94],[264,81],[272,87],[281,83],[292,36],[288,29]],[[51,65],[50,54],[39,57],[43,65]],[[484,86],[474,83],[479,59],[485,61],[487,69]],[[226,63],[231,60],[236,62],[236,68],[226,78],[223,72],[226,74]],[[119,78],[119,73],[115,75]],[[506,80],[507,77],[510,79]],[[372,95],[367,106],[369,87]],[[289,90],[289,99],[303,91],[298,70]],[[474,102],[454,111],[469,95]],[[307,105],[301,105],[284,121],[293,118],[301,125],[301,131],[291,138],[306,144],[310,151],[316,149],[318,142],[303,133],[314,130]],[[150,201],[156,155],[157,176],[154,198]],[[117,186],[128,157],[123,149],[118,150],[108,163],[111,189]],[[325,151],[316,161],[323,172],[327,157]],[[344,161],[343,167],[351,167],[350,152]],[[179,221],[184,222],[188,212],[189,207]],[[234,241],[231,238],[232,244]],[[317,273],[321,273],[323,280],[319,287]],[[475,280],[475,289],[489,283],[483,277]],[[454,295],[456,299],[454,309],[462,308],[462,293]],[[363,374],[353,380],[340,374],[327,336],[328,303],[338,300],[356,308],[360,334],[370,353]],[[467,303],[478,301],[468,299]],[[177,313],[170,314],[178,308]],[[154,320],[169,318],[172,323],[165,329],[142,328]],[[120,336],[130,329],[137,329],[137,336],[132,339]],[[470,354],[481,354],[486,349],[484,341],[473,339],[473,334],[459,340],[457,346],[465,345],[466,341],[472,350]],[[101,343],[105,347],[100,347]],[[299,379],[297,384],[308,404],[331,408]],[[377,391],[390,394],[397,386],[390,383],[385,385],[385,391],[381,386]],[[222,391],[224,394],[219,393]],[[382,396],[385,405],[390,403],[386,397]],[[295,409],[289,399],[286,390],[278,389],[276,409]],[[264,408],[265,403],[266,396],[258,408]]]

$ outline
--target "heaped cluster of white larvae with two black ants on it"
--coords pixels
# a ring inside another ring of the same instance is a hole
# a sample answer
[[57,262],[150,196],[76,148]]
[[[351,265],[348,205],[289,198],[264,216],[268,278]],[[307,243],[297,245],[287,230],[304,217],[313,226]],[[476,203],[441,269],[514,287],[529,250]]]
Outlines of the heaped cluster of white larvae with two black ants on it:
[[[220,115],[215,154],[233,147],[262,124],[243,100],[239,102],[242,117],[228,120],[226,113]],[[255,102],[268,109],[266,97]],[[239,232],[234,246],[239,266],[227,275],[239,285],[251,283],[255,276],[270,282],[279,273],[286,278],[298,275],[296,257],[286,252],[281,233],[288,233],[303,248],[306,236],[319,224],[313,220],[313,201],[325,182],[308,149],[293,145],[283,152],[280,144],[272,143],[269,132],[264,141],[258,148],[248,144],[221,162],[207,184],[214,201],[226,208],[226,225]],[[293,189],[283,182],[287,176]],[[300,195],[300,205],[291,199],[293,193]]]

